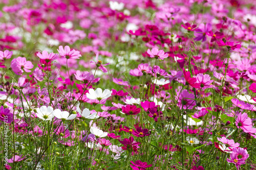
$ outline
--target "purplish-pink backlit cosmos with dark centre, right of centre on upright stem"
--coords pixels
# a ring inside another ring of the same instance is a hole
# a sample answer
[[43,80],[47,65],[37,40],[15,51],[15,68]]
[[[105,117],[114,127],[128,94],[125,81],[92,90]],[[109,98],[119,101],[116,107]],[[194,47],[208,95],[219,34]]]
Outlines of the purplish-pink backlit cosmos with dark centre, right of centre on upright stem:
[[178,101],[180,109],[182,109],[182,107],[183,109],[193,109],[196,105],[195,100],[193,100],[195,99],[194,94],[187,92],[187,90],[183,90],[178,96],[175,96],[175,99]]

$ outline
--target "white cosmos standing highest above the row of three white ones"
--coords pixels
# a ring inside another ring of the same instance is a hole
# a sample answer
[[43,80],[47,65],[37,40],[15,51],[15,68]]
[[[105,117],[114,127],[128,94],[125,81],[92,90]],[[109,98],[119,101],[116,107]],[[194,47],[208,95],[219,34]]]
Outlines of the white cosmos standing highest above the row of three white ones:
[[98,101],[101,101],[103,99],[108,99],[112,94],[112,91],[110,91],[109,89],[105,89],[103,92],[102,92],[102,89],[101,88],[97,88],[95,91],[94,89],[89,89],[89,93],[86,93],[86,96],[88,99],[91,99],[91,100],[98,100]]

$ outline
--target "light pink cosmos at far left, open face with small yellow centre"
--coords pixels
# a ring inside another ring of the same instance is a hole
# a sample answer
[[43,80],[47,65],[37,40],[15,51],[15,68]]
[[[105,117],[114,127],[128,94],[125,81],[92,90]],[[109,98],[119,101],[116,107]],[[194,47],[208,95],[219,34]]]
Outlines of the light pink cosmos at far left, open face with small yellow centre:
[[[33,64],[30,61],[27,61],[25,57],[18,57],[12,60],[11,68],[16,75],[22,75],[23,72],[31,72],[31,68],[33,68]],[[23,71],[24,70],[24,71]]]

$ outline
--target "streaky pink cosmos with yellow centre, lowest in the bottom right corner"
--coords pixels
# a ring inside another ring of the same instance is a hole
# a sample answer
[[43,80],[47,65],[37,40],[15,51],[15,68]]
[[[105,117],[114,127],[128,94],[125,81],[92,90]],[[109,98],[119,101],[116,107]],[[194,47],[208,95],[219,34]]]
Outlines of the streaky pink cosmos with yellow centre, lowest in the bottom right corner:
[[232,153],[230,154],[230,158],[227,158],[227,162],[233,163],[236,165],[237,169],[240,169],[242,164],[245,164],[245,160],[249,157],[247,151],[243,148],[234,148]]

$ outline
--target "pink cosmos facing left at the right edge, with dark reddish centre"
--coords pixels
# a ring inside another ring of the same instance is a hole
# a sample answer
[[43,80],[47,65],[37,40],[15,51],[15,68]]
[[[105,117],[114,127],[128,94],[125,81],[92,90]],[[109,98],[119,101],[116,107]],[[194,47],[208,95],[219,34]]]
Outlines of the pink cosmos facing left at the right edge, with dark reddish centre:
[[237,128],[241,128],[245,133],[249,133],[252,131],[252,122],[250,117],[248,117],[247,113],[239,113],[236,119]]

